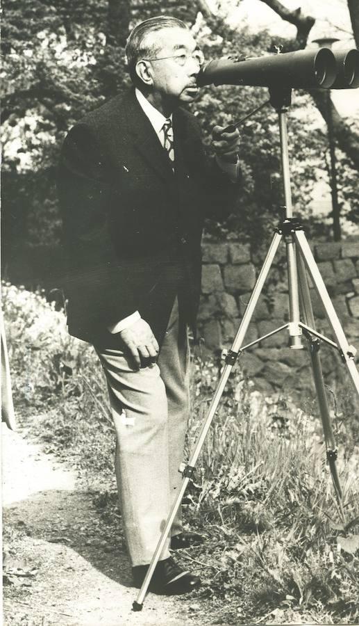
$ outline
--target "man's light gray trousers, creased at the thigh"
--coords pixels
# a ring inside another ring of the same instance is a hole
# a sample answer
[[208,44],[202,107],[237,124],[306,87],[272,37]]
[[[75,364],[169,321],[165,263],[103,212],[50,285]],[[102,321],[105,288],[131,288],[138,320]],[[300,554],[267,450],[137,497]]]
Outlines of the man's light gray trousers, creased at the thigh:
[[[177,299],[156,365],[137,371],[121,351],[97,354],[116,429],[115,469],[128,552],[132,565],[147,565],[181,485],[178,467],[190,410],[190,350]],[[172,536],[181,529],[178,511]],[[160,559],[167,556],[169,539]]]

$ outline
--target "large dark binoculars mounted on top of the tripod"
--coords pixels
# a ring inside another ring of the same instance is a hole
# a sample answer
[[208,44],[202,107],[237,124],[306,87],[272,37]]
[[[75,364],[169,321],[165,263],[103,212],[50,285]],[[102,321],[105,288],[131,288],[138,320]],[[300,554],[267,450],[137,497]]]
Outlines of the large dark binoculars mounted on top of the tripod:
[[319,48],[243,60],[219,58],[201,67],[197,84],[355,89],[359,86],[359,50]]

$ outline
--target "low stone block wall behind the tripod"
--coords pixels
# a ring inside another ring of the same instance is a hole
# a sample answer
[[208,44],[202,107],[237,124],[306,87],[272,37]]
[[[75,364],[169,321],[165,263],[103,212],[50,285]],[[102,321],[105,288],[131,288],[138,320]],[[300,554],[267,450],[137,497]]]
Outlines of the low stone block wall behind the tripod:
[[[359,353],[359,237],[342,243],[311,243],[322,278],[347,335]],[[256,276],[267,250],[253,252],[249,244],[235,239],[215,243],[203,241],[203,280],[199,310],[199,335],[207,354],[218,354],[231,346],[247,306]],[[310,283],[310,281],[309,281]],[[310,295],[316,328],[331,337],[322,303],[312,285]],[[285,243],[281,243],[267,278],[244,344],[282,326],[288,319],[288,294]],[[258,390],[266,393],[291,387],[312,394],[310,358],[306,350],[287,346],[287,330],[282,331],[244,353],[240,367]],[[306,340],[303,339],[306,345]],[[321,344],[326,382],[349,378],[346,368],[333,348]],[[359,360],[356,359],[358,364]]]

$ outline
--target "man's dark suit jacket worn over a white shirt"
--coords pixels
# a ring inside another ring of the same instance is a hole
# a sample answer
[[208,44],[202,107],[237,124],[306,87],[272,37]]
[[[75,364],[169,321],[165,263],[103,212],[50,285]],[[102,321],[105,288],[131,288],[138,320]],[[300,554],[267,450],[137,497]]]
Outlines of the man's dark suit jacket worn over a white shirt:
[[173,114],[176,172],[131,89],[88,113],[62,148],[58,191],[69,332],[119,347],[107,326],[138,310],[162,341],[174,298],[194,326],[205,216],[238,186],[206,159],[197,120]]

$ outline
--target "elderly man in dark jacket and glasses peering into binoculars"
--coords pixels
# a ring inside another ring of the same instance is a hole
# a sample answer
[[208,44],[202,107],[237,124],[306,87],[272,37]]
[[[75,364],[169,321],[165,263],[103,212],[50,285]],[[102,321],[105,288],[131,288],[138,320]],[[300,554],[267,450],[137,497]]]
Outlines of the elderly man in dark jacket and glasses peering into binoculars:
[[[239,135],[215,127],[216,157],[207,159],[197,121],[181,106],[198,95],[203,61],[183,22],[142,22],[126,57],[133,88],[69,131],[59,193],[69,332],[94,345],[106,374],[124,533],[140,586],[181,483],[203,219],[223,216],[235,200]],[[195,540],[178,513],[150,590],[199,585],[169,554]]]

